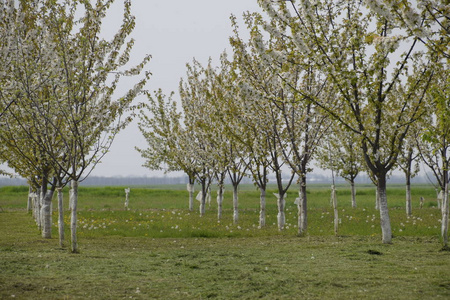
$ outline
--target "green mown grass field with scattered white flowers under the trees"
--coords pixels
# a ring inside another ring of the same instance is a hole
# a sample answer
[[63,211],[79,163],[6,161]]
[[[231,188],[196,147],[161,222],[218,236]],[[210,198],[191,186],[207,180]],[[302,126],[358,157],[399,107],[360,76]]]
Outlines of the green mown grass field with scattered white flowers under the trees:
[[[215,201],[202,218],[197,209],[188,211],[185,186],[132,188],[128,211],[123,209],[123,188],[80,188],[80,254],[59,247],[56,213],[54,238],[40,237],[26,213],[26,187],[1,188],[0,298],[450,297],[450,253],[440,251],[440,213],[428,186],[413,187],[410,218],[404,188],[389,187],[392,245],[381,244],[371,186],[358,187],[356,209],[351,208],[350,190],[338,187],[338,236],[329,186],[312,186],[305,237],[296,236],[295,190],[287,198],[286,230],[279,232],[271,193],[268,225],[260,229],[258,192],[241,188],[240,219],[232,224],[227,188],[220,222]],[[423,209],[421,196],[427,199]]]

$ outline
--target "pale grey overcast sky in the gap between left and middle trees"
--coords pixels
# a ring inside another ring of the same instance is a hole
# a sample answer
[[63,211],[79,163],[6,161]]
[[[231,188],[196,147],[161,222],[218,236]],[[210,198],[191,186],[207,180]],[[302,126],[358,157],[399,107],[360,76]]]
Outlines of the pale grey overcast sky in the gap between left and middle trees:
[[[105,20],[107,31],[117,28],[122,11],[122,1],[116,0]],[[206,64],[212,57],[218,64],[220,53],[230,49],[229,17],[234,14],[242,19],[244,11],[260,11],[257,1],[132,0],[132,12],[136,16],[132,59],[139,61],[147,53],[153,57],[147,67],[153,75],[146,88],[151,91],[161,88],[166,94],[175,91],[178,98],[178,84],[186,74],[186,63],[195,57]],[[137,120],[116,137],[110,153],[91,176],[162,175],[142,167],[144,160],[135,146],[147,146],[137,128]]]

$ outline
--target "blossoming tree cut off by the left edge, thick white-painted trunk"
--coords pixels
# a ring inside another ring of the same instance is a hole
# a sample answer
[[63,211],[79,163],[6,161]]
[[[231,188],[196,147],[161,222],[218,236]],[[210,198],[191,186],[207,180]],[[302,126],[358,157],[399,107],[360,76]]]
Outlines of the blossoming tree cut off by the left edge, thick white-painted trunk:
[[[52,136],[50,147],[61,153],[62,145],[54,138],[49,119],[41,118],[39,110],[52,113],[56,101],[52,90],[57,88],[55,43],[49,23],[51,12],[44,1],[2,2],[0,22],[3,61],[0,106],[3,108],[3,128],[0,137],[6,148],[7,164],[24,178],[40,187],[41,196],[34,210],[44,238],[51,237],[51,201],[56,188],[52,157],[44,143]],[[52,7],[54,8],[54,7]],[[54,11],[52,11],[54,13]],[[49,68],[50,67],[50,68]],[[53,117],[53,116],[52,116]],[[55,177],[56,178],[56,177]],[[36,180],[37,179],[37,180]],[[47,193],[47,185],[52,187]]]

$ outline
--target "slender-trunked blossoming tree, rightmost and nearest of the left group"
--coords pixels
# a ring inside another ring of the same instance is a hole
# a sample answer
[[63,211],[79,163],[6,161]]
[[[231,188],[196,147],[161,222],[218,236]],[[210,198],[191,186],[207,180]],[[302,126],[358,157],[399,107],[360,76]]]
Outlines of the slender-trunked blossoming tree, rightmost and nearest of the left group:
[[[131,103],[149,79],[145,72],[121,97],[114,95],[124,76],[137,77],[150,60],[145,56],[140,63],[127,67],[134,40],[129,35],[135,19],[131,15],[131,3],[124,2],[122,24],[111,41],[102,39],[101,20],[112,2],[98,1],[95,6],[85,1],[70,1],[55,11],[50,19],[57,48],[58,67],[63,76],[60,97],[56,109],[65,116],[66,130],[58,136],[66,147],[67,164],[59,164],[72,185],[72,251],[77,251],[76,211],[78,182],[86,178],[111,147],[116,134],[132,119],[128,113]],[[84,15],[75,18],[74,12]],[[75,27],[77,25],[78,27]],[[128,115],[126,115],[128,114]],[[55,130],[60,128],[54,126]],[[51,152],[50,152],[51,153]]]

